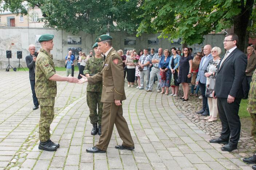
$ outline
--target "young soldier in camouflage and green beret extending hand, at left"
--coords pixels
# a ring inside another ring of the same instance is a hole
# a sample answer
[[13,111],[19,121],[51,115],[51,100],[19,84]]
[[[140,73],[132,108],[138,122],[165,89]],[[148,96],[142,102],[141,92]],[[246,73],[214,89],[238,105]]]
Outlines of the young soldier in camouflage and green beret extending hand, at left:
[[68,81],[76,83],[78,78],[63,77],[55,73],[52,61],[52,50],[54,35],[44,34],[38,41],[42,46],[36,59],[35,68],[35,92],[40,105],[39,139],[38,148],[47,151],[55,151],[60,145],[50,139],[50,125],[54,118],[54,102],[57,91],[56,81]]

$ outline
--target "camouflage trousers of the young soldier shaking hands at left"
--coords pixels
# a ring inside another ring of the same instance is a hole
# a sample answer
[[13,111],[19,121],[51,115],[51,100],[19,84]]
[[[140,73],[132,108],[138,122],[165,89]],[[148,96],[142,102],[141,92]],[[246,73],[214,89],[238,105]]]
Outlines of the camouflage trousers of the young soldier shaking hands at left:
[[50,125],[54,118],[54,103],[55,97],[38,98],[40,105],[40,120],[39,120],[39,140],[46,142],[50,139]]

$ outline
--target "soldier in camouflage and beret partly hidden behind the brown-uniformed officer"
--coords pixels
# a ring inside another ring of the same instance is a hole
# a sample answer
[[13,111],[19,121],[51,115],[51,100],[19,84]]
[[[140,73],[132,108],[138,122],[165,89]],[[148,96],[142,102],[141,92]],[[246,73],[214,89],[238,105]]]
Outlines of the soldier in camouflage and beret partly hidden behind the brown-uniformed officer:
[[[97,74],[101,72],[103,65],[103,57],[101,56],[101,52],[98,49],[98,43],[96,42],[92,46],[95,56],[88,58],[87,64],[84,68],[84,75],[86,77],[90,77],[93,74]],[[86,93],[86,101],[87,105],[90,109],[90,120],[92,124],[91,135],[98,134],[101,135],[101,117],[102,117],[102,107],[103,103],[101,102],[101,92],[102,92],[102,81],[99,81],[95,84],[87,85],[87,93]],[[97,114],[97,105],[98,105],[98,114]],[[99,128],[97,126],[97,122],[99,124]]]

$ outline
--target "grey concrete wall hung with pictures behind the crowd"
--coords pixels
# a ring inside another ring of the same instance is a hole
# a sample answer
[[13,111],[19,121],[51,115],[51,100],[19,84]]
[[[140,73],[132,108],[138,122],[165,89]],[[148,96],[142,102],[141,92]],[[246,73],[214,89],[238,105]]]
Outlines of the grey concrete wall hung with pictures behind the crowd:
[[[80,47],[82,51],[88,54],[91,50],[91,46],[95,43],[96,35],[85,34],[79,32],[77,36],[81,36],[81,45],[70,45],[67,43],[67,36],[72,35],[71,33],[55,30],[53,28],[17,28],[17,27],[0,27],[0,69],[5,69],[8,65],[8,59],[6,58],[6,50],[12,50],[12,58],[10,59],[10,64],[13,67],[19,65],[19,60],[17,59],[17,51],[21,50],[23,58],[20,60],[21,65],[26,67],[25,56],[29,54],[28,45],[35,44],[35,36],[42,35],[45,33],[53,34],[54,37],[54,48],[51,53],[54,56],[54,63],[56,66],[64,66],[64,58],[67,56],[68,47]],[[135,45],[125,45],[125,37],[135,37],[134,35],[126,35],[122,32],[110,33],[113,37],[113,47],[116,50],[122,49],[144,49],[144,48],[159,48],[170,49],[171,47],[176,47],[182,49],[182,45],[171,45],[168,39],[159,39],[158,45],[148,45],[149,38],[156,38],[158,35],[155,34],[143,34],[140,37],[136,37]],[[205,36],[205,44],[211,44],[212,46],[219,46],[223,49],[224,35],[207,35]],[[40,44],[35,44],[36,48],[40,48]],[[193,51],[200,50],[203,45],[192,45],[189,47],[193,48]]]

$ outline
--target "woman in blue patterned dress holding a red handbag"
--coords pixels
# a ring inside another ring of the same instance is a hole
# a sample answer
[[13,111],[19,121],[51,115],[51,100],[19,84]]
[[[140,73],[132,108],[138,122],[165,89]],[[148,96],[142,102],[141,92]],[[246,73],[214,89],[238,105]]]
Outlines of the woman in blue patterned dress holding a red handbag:
[[[169,69],[169,62],[170,62],[170,56],[169,56],[169,50],[164,50],[164,56],[161,57],[161,60],[159,61],[158,67],[160,69],[160,87],[162,88],[162,92],[160,94],[168,95],[169,93],[169,87],[170,87],[170,69]],[[166,91],[165,91],[166,87]]]

